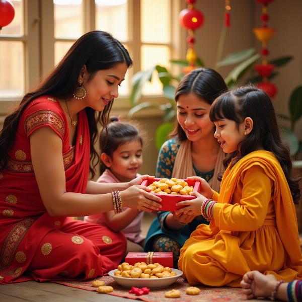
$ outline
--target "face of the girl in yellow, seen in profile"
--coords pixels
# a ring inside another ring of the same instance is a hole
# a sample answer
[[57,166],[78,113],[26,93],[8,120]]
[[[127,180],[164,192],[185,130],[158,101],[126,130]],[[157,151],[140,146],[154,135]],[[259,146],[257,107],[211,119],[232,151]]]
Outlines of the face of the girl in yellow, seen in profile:
[[215,138],[217,138],[220,147],[223,149],[224,153],[233,153],[238,150],[238,145],[245,138],[245,124],[239,124],[233,120],[221,119],[214,122],[216,126],[216,131],[214,133]]

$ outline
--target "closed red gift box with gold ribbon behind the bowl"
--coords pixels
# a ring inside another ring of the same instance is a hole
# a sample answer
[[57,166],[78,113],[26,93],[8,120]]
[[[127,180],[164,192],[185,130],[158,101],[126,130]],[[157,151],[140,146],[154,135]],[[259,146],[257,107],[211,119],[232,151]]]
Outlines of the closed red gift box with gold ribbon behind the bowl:
[[125,258],[125,262],[134,265],[137,262],[144,262],[146,264],[159,263],[164,267],[173,267],[173,253],[172,252],[129,252]]

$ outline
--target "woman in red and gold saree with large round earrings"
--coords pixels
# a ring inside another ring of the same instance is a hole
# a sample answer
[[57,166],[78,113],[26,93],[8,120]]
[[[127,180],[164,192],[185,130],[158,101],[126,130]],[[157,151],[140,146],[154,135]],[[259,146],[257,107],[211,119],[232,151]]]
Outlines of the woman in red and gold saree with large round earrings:
[[97,122],[106,127],[131,64],[111,35],[87,33],[6,118],[0,133],[0,284],[102,276],[123,258],[125,237],[68,216],[113,210],[110,192],[118,190],[125,206],[160,208],[161,200],[139,185],[148,176],[119,184],[88,180]]

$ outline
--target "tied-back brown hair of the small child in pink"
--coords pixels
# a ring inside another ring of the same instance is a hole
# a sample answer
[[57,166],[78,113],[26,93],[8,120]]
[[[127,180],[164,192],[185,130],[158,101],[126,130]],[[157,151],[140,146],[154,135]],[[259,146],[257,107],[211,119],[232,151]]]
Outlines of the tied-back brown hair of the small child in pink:
[[[110,123],[106,129],[103,128],[100,134],[100,150],[101,153],[106,153],[110,158],[119,145],[132,140],[138,140],[142,146],[144,138],[144,132],[138,130],[138,128],[131,122],[121,122],[117,117],[110,118]],[[104,163],[101,161],[101,174],[107,169]]]

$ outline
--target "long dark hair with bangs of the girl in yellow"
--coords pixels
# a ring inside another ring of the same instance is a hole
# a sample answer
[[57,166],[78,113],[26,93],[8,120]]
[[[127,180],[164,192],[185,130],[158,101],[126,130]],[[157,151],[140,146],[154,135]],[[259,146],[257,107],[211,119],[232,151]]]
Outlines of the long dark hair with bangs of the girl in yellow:
[[261,89],[246,86],[226,92],[219,96],[210,108],[212,122],[222,118],[233,120],[238,128],[246,117],[253,120],[253,130],[240,142],[239,151],[234,152],[223,161],[225,168],[231,168],[244,156],[262,146],[272,152],[279,161],[294,203],[300,199],[299,178],[291,177],[292,164],[288,146],[281,141],[273,104]]

